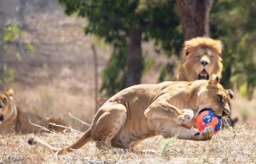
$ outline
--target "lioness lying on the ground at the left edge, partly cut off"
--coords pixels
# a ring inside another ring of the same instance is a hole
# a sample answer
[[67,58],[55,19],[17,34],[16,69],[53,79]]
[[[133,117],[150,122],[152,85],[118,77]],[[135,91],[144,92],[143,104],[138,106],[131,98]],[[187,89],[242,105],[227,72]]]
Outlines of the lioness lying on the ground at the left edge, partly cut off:
[[0,93],[0,133],[12,133],[21,132],[36,133],[41,131],[40,127],[32,125],[31,123],[47,127],[55,132],[61,132],[64,130],[62,127],[53,126],[49,123],[55,123],[57,125],[65,125],[65,121],[61,117],[43,118],[34,113],[24,112],[19,110],[13,102],[13,90],[10,89],[7,92]]

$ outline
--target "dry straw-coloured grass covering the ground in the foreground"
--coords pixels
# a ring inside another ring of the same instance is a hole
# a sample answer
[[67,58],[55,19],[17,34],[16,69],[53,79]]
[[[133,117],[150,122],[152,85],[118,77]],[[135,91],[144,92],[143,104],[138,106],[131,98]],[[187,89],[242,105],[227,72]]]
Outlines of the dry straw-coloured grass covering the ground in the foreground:
[[[60,147],[75,141],[78,133],[48,134],[40,137]],[[205,142],[173,140],[162,155],[164,140],[157,136],[125,155],[99,151],[89,142],[77,151],[56,155],[47,148],[27,144],[29,135],[1,135],[0,163],[254,163],[256,130],[242,126],[222,130]]]

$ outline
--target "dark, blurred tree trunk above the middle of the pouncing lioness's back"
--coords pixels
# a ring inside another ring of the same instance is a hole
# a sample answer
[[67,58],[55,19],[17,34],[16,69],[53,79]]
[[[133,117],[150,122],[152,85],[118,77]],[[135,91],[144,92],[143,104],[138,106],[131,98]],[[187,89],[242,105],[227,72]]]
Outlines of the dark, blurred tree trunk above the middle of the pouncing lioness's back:
[[126,87],[137,85],[140,83],[143,69],[142,51],[141,51],[141,35],[140,30],[130,28],[129,45],[127,52],[127,81]]

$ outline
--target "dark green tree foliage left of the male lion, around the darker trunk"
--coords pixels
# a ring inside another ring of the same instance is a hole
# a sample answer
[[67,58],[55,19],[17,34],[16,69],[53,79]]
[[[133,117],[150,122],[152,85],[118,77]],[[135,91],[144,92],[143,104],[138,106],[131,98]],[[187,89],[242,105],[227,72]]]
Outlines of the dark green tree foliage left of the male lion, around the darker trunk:
[[[154,39],[155,44],[161,45],[169,56],[178,53],[183,43],[175,0],[58,1],[65,6],[67,14],[76,13],[88,19],[86,34],[95,34],[114,47],[109,64],[102,73],[101,92],[105,91],[106,95],[125,87],[129,29],[142,31],[144,41]],[[149,67],[144,66],[146,69]]]

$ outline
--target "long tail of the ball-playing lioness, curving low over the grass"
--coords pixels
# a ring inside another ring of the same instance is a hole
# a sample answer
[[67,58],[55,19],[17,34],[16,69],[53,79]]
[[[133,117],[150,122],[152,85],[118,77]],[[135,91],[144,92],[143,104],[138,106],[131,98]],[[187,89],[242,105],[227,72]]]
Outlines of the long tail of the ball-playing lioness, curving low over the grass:
[[72,149],[78,149],[89,141],[91,141],[91,127],[77,141],[71,143],[71,145],[68,145],[62,148],[52,147],[50,144],[46,143],[45,141],[42,141],[39,137],[36,137],[36,136],[31,137],[28,140],[28,143],[29,145],[34,145],[38,142],[41,145],[47,148],[50,148],[50,150],[52,150],[53,152],[62,153],[65,150],[72,151]]

